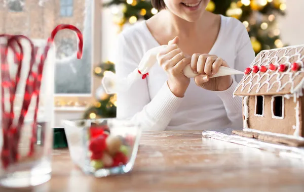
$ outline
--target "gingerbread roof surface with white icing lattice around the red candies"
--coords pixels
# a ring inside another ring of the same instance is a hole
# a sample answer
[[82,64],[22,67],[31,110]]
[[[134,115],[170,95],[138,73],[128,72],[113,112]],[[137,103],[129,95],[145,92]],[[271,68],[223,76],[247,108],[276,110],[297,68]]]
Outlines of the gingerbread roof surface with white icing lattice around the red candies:
[[[256,57],[254,62],[252,62],[250,68],[253,66],[265,66],[268,68],[267,71],[258,71],[257,73],[251,71],[250,74],[245,75],[242,81],[238,84],[235,94],[238,91],[237,94],[241,95],[246,87],[248,87],[248,91],[246,91],[247,93],[255,92],[263,94],[264,91],[263,93],[259,91],[264,86],[267,86],[267,89],[265,90],[266,93],[270,91],[279,92],[288,84],[291,85],[290,90],[288,90],[290,93],[296,92],[300,94],[304,85],[304,55],[301,55],[301,52],[304,53],[304,45],[288,46],[280,49],[262,51],[259,54],[259,57]],[[279,55],[282,56],[279,58]],[[291,62],[291,60],[293,61]],[[299,66],[299,69],[296,72],[291,70],[291,65],[294,62]],[[276,66],[276,71],[271,71],[269,69],[270,64],[274,64]],[[279,71],[279,64],[284,64],[286,66],[286,70],[284,72]],[[295,83],[294,80],[297,77],[301,78],[301,80],[298,81],[298,83]],[[273,90],[275,85],[277,85],[278,88]],[[251,92],[253,88],[256,88],[256,91]]]

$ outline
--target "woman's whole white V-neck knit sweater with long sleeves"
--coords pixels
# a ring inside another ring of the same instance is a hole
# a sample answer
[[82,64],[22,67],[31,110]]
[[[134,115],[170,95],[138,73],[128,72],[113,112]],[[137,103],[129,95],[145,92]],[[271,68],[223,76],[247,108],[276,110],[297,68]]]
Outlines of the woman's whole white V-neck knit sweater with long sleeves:
[[[144,53],[160,44],[149,32],[145,21],[125,29],[118,37],[112,61],[116,74],[127,77],[137,68]],[[244,71],[255,55],[248,32],[237,19],[221,16],[216,42],[209,54],[224,59],[231,68]],[[118,94],[117,118],[132,118],[144,130],[220,130],[242,128],[242,100],[233,92],[242,78],[234,76],[225,91],[209,91],[191,79],[185,96],[177,98],[167,85],[165,71],[155,64],[145,79],[136,81]]]

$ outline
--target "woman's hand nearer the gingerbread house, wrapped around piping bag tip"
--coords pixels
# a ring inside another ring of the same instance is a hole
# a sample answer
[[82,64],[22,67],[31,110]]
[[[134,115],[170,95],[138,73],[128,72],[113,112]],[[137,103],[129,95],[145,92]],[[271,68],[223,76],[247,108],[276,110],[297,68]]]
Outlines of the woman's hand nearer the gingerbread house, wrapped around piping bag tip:
[[229,67],[223,59],[215,55],[194,54],[191,58],[191,68],[198,73],[195,83],[204,89],[213,91],[223,91],[229,88],[232,84],[231,76],[210,78],[218,72],[220,66]]

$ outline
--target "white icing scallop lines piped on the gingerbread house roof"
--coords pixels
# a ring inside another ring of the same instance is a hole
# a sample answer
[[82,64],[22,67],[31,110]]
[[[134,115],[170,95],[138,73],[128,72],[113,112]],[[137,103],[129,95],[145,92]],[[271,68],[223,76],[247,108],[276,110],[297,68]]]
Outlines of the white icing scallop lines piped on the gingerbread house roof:
[[[293,49],[294,48],[294,49]],[[243,91],[245,89],[246,86],[249,86],[248,88],[248,93],[255,87],[256,87],[256,93],[259,92],[259,90],[264,86],[267,85],[267,90],[266,92],[269,92],[274,85],[278,85],[278,89],[276,90],[281,91],[287,84],[291,84],[291,89],[290,92],[294,93],[297,92],[299,94],[301,94],[300,92],[302,91],[301,89],[303,88],[304,85],[304,78],[300,81],[299,84],[297,84],[294,87],[294,79],[297,75],[304,73],[304,65],[302,60],[304,59],[304,56],[301,56],[300,52],[303,51],[304,49],[304,45],[297,45],[297,46],[288,46],[288,47],[283,47],[280,49],[274,49],[274,50],[264,50],[262,51],[261,57],[252,62],[251,66],[258,66],[260,67],[261,65],[264,65],[266,67],[268,67],[271,63],[270,61],[275,61],[272,62],[276,67],[276,72],[270,74],[271,70],[267,70],[264,73],[261,73],[260,71],[258,71],[257,73],[253,73],[251,72],[251,74],[249,75],[245,75],[242,79],[242,82],[240,82],[236,88],[236,90],[242,86],[241,91]],[[295,50],[295,54],[293,55],[288,55],[290,51]],[[271,53],[270,51],[275,51],[273,53]],[[278,57],[278,54],[284,52],[283,56],[281,58]],[[270,56],[271,55],[271,56]],[[292,57],[297,57],[297,60],[295,61],[298,65],[299,65],[299,70],[297,72],[293,72],[291,71],[291,65],[292,63],[290,63],[290,59]],[[279,65],[278,62],[281,61],[282,59],[286,59],[286,62],[284,63],[287,67],[287,70],[285,72],[279,72]],[[276,80],[270,84],[270,79],[275,78],[276,76]],[[282,78],[288,76],[289,78],[286,80],[284,80],[284,82],[282,82]],[[257,78],[256,82],[253,84],[252,81],[254,78]],[[265,79],[266,78],[266,79]],[[249,81],[248,81],[249,79]],[[265,79],[261,82],[261,79]],[[244,83],[245,81],[248,81],[247,83]]]

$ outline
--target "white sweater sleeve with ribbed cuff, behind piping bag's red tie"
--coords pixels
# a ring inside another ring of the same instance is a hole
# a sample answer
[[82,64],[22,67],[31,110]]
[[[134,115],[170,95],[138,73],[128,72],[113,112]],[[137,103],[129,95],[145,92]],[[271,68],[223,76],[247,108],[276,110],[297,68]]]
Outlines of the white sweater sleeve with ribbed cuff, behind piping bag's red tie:
[[[119,35],[113,55],[116,74],[127,77],[141,60],[142,47],[135,39]],[[150,100],[147,78],[139,79],[126,92],[117,94],[117,118],[130,119],[143,130],[165,130],[182,101],[169,89],[167,82]]]

